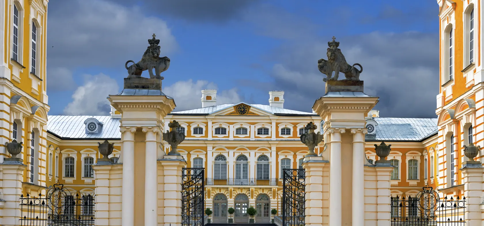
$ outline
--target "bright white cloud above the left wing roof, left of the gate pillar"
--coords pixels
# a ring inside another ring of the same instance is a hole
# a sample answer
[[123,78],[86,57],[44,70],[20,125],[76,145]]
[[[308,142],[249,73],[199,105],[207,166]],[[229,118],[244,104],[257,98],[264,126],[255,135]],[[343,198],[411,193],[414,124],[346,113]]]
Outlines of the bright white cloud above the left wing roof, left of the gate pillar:
[[73,101],[64,108],[65,115],[108,115],[109,94],[119,92],[116,80],[105,74],[84,75],[84,85],[72,95]]

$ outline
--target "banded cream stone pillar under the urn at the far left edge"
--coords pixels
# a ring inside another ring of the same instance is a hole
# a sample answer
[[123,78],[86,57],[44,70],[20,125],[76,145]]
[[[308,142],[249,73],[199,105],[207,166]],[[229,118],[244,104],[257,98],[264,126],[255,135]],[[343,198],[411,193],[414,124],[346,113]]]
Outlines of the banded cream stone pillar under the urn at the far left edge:
[[5,205],[2,210],[2,226],[20,225],[22,215],[20,196],[22,195],[23,172],[27,166],[21,161],[9,161],[8,158],[0,164],[1,192]]

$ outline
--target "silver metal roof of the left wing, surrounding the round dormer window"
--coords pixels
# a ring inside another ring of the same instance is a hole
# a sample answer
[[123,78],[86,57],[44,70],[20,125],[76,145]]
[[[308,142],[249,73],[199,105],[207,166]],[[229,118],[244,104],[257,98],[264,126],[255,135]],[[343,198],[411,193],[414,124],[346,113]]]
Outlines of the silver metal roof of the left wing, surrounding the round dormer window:
[[[47,130],[57,136],[65,138],[121,138],[120,120],[112,119],[111,116],[64,116],[64,115],[49,115],[47,121]],[[86,133],[86,125],[84,121],[94,118],[104,123],[100,133],[91,134]]]

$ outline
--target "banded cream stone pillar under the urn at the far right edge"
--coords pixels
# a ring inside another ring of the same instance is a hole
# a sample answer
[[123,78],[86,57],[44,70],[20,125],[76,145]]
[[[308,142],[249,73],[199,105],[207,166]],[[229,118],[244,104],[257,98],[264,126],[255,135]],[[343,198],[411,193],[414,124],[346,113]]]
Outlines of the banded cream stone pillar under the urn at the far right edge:
[[460,171],[464,179],[464,197],[466,197],[464,217],[467,225],[481,225],[484,168],[481,162],[464,162]]

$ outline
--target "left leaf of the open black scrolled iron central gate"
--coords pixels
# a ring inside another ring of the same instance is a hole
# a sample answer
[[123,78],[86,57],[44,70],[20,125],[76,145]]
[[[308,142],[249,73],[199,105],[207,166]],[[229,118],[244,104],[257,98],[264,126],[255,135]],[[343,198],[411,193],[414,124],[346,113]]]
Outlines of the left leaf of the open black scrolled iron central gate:
[[203,226],[205,168],[183,168],[181,173],[181,225]]

